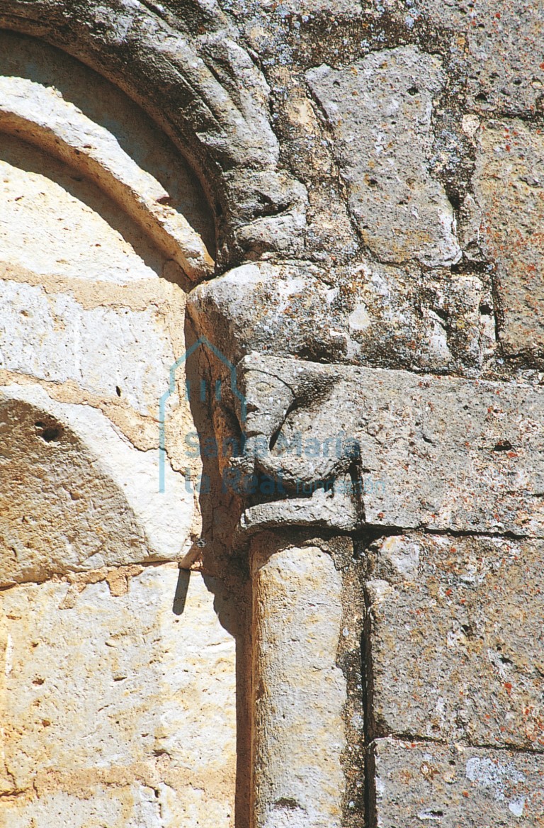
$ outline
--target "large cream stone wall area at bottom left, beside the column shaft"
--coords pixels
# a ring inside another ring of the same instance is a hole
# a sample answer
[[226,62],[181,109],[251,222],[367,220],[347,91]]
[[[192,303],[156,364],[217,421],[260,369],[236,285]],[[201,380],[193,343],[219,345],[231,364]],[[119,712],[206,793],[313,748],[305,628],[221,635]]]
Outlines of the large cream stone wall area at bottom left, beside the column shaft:
[[235,644],[207,585],[169,564],[72,609],[64,583],[2,592],[2,825],[234,825]]

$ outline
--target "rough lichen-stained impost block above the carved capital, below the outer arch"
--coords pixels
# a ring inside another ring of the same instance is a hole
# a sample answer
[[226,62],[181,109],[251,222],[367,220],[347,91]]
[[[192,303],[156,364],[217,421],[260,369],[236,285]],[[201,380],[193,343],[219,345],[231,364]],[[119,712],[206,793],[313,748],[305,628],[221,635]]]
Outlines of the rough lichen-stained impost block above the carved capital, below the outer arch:
[[232,361],[260,351],[470,374],[494,353],[478,277],[370,261],[339,272],[336,286],[321,276],[310,263],[245,264],[191,291],[188,312]]

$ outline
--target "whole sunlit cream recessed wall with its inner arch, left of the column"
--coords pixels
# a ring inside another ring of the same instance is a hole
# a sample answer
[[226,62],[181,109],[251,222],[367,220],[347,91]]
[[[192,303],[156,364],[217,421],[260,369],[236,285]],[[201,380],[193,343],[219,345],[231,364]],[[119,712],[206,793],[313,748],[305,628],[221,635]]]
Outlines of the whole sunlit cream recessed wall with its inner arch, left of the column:
[[[34,50],[39,74],[40,43],[5,37]],[[151,828],[192,826],[205,808],[231,828],[235,641],[217,619],[229,598],[221,580],[179,573],[198,537],[195,498],[174,449],[163,495],[157,467],[158,399],[184,349],[190,280],[212,272],[212,223],[183,159],[136,104],[126,102],[125,133],[93,128],[54,76],[54,65],[49,84],[13,71],[0,105],[0,197],[10,205],[0,245],[0,696],[15,700],[2,817],[84,826],[92,811],[104,825]],[[17,80],[34,84],[40,107],[24,110],[29,89],[17,96]],[[122,114],[109,113],[117,127]],[[148,166],[131,154],[131,124],[150,131]],[[171,421],[191,421],[183,394]],[[208,761],[217,744],[222,755]]]

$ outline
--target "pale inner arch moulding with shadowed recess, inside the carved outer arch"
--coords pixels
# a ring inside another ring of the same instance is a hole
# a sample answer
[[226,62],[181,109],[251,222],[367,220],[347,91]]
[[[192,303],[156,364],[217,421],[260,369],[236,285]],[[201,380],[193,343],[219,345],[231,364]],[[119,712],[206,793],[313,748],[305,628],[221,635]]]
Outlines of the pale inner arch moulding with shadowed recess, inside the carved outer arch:
[[[208,205],[153,122],[100,75],[40,41],[3,34],[0,71],[0,132],[95,182],[191,281],[212,274]],[[90,85],[93,94],[84,94]]]

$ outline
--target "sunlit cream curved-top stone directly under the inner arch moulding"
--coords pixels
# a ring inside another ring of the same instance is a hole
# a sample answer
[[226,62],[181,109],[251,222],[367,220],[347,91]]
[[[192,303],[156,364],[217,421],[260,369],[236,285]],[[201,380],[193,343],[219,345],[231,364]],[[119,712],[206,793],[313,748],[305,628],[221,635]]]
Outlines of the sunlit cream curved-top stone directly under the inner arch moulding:
[[160,273],[165,257],[146,234],[69,166],[2,134],[0,176],[2,261],[120,284]]

